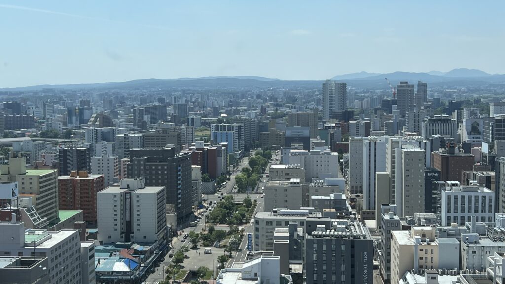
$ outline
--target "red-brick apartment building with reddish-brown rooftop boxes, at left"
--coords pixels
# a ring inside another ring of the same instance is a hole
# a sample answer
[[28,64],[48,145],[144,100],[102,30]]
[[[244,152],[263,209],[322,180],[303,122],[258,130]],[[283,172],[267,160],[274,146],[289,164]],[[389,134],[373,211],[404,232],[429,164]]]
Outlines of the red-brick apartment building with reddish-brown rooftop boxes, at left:
[[104,175],[72,171],[58,176],[60,210],[82,210],[83,219],[96,223],[96,193],[104,189]]

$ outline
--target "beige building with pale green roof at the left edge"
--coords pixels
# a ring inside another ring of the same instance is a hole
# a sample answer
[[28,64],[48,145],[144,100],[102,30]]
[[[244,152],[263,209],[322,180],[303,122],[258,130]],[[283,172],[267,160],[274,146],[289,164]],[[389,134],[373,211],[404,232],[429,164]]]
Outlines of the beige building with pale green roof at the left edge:
[[16,181],[19,186],[19,194],[35,197],[34,205],[41,218],[47,218],[49,222],[58,218],[56,170],[27,169],[25,158],[14,157],[11,153],[9,164],[0,165],[0,182]]

